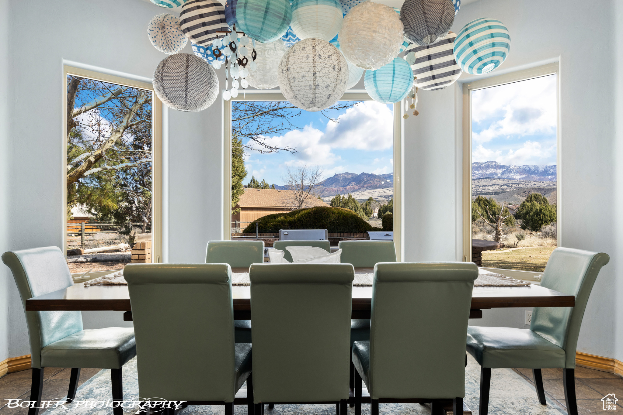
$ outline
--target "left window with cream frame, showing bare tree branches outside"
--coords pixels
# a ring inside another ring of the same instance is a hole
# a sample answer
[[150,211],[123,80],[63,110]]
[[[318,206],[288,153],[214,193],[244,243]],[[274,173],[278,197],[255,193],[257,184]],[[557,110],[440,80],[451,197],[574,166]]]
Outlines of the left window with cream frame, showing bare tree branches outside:
[[150,84],[102,74],[68,68],[65,80],[70,271],[101,274],[158,261],[158,98]]

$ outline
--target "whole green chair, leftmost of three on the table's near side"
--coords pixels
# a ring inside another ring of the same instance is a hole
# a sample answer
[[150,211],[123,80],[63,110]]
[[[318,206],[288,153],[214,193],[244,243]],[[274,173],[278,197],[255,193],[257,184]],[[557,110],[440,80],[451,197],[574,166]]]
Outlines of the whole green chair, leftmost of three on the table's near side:
[[232,415],[240,386],[246,380],[247,392],[253,388],[251,345],[234,343],[229,265],[128,264],[123,276],[136,332],[139,396],[224,404]]

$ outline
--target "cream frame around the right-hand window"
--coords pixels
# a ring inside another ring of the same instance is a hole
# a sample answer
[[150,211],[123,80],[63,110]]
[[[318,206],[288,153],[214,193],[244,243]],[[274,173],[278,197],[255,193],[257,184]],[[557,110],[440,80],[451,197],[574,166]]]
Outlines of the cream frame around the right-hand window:
[[[559,63],[548,63],[535,68],[505,73],[463,84],[463,261],[472,258],[472,91],[492,86],[521,82],[534,78],[556,75],[556,245],[561,246],[560,218],[563,210],[561,178],[561,139],[560,139],[560,72]],[[543,272],[518,271],[516,269],[485,268],[498,274],[528,281],[540,281]],[[536,278],[535,278],[536,277]]]

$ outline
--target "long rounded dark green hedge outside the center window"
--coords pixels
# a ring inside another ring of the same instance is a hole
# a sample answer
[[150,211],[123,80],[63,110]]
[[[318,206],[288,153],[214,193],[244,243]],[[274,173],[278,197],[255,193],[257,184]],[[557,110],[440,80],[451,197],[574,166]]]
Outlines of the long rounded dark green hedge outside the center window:
[[[326,229],[335,232],[380,231],[346,208],[318,206],[273,213],[259,218],[259,232],[278,232],[280,229]],[[255,222],[244,228],[245,233],[255,232]]]

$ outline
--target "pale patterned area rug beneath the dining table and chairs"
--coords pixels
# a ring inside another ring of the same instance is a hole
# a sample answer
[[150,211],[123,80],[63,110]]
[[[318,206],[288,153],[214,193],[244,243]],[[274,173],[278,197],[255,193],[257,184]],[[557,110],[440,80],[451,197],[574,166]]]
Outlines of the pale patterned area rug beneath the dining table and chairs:
[[[243,386],[245,388],[246,386]],[[465,368],[465,403],[478,414],[478,392],[480,390],[480,366],[470,356]],[[239,395],[240,395],[239,391]],[[244,393],[244,392],[242,392]],[[128,400],[138,396],[136,378],[136,358],[123,366],[123,398]],[[244,394],[242,395],[244,396]],[[110,370],[102,370],[78,388],[76,401],[107,400],[111,398]],[[511,369],[493,369],[489,401],[490,414],[506,415],[566,415],[564,409],[547,399],[547,405],[541,405],[536,398],[533,386]],[[67,404],[67,415],[112,415],[111,408],[76,408],[75,403]],[[275,405],[265,408],[265,415],[335,415],[333,405]],[[429,415],[430,408],[421,404],[381,404],[379,412],[391,415]],[[246,405],[235,405],[235,415],[246,415]],[[361,408],[363,415],[369,415],[369,405]],[[52,415],[49,411],[42,413]],[[130,414],[130,413],[125,413]],[[222,415],[223,406],[188,406],[176,411],[178,415]],[[348,414],[354,415],[354,408],[348,408]]]

